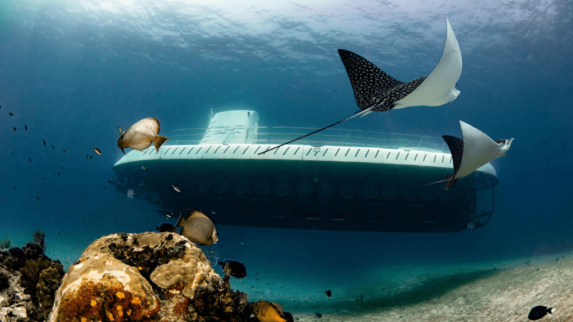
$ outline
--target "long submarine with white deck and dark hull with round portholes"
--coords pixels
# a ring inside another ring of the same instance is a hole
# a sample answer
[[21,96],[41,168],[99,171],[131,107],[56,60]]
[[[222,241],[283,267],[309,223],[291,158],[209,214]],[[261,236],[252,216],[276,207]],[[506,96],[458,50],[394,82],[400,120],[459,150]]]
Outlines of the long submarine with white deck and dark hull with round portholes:
[[206,128],[167,133],[159,151],[124,155],[113,166],[116,189],[162,207],[159,215],[197,209],[215,225],[456,232],[492,217],[499,179],[490,163],[452,189],[418,187],[453,172],[442,138],[325,129],[259,154],[313,128],[260,127],[244,109],[211,109],[207,119]]

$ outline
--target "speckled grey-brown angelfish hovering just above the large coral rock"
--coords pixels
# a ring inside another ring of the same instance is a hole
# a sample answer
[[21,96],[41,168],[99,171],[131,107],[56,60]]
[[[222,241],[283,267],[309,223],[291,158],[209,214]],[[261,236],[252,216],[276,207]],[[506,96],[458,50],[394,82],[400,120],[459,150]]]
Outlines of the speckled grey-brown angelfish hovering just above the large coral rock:
[[189,216],[184,219],[183,214],[180,214],[179,220],[175,224],[175,227],[183,227],[180,234],[198,245],[209,246],[217,244],[219,237],[211,219],[201,213],[201,211],[186,210],[191,210]]

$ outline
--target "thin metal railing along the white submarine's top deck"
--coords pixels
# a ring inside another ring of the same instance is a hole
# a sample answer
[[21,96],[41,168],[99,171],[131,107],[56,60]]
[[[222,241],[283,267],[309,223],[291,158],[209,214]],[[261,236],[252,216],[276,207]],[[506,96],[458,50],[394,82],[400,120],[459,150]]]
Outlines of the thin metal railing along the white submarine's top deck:
[[[166,145],[199,144],[207,130],[230,131],[226,138],[213,139],[220,144],[281,144],[296,136],[305,135],[317,128],[309,127],[209,127],[175,129]],[[246,129],[245,133],[236,133],[237,129]],[[254,132],[254,133],[253,133]],[[297,141],[299,144],[330,146],[363,146],[377,148],[409,148],[411,150],[440,151],[448,153],[449,149],[442,138],[429,135],[412,135],[405,133],[386,133],[362,131],[356,129],[324,129],[314,135]],[[205,138],[206,139],[206,138]],[[209,139],[205,140],[209,143]],[[203,144],[205,144],[203,143]]]

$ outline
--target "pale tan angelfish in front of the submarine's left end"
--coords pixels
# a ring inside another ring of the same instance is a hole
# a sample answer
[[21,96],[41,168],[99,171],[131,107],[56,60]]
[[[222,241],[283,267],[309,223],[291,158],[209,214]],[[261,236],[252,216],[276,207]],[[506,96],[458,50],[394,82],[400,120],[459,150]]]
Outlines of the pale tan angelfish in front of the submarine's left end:
[[121,133],[117,138],[117,147],[121,149],[123,154],[125,154],[124,148],[130,147],[134,150],[143,151],[151,146],[151,142],[155,146],[155,151],[159,152],[159,147],[169,139],[159,135],[159,121],[155,117],[139,120],[123,132],[121,132],[120,127],[117,128]]

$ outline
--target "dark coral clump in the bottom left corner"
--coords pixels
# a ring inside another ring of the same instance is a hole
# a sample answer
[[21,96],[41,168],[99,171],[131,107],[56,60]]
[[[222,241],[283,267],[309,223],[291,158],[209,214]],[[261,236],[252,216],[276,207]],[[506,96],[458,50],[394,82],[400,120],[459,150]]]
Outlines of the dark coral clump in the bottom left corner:
[[0,252],[0,321],[45,321],[62,276],[62,264],[43,255],[40,245]]

